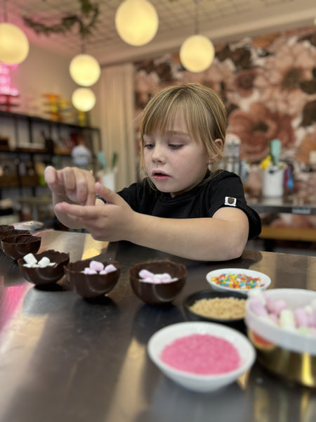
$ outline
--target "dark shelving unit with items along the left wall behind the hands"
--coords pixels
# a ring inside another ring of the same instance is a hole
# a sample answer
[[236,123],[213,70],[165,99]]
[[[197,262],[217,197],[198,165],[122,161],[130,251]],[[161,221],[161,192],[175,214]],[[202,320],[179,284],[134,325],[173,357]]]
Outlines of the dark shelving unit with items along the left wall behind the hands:
[[80,141],[96,157],[100,129],[0,110],[0,200],[45,194],[35,167],[72,165],[71,151]]

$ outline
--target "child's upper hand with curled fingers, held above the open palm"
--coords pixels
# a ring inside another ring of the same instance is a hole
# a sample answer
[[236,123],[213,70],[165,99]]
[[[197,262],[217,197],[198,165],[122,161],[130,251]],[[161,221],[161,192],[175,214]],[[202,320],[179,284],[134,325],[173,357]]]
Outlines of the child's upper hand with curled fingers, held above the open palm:
[[44,177],[54,194],[55,203],[68,198],[81,205],[95,205],[96,181],[91,172],[77,167],[55,170],[54,167],[48,166],[45,169]]

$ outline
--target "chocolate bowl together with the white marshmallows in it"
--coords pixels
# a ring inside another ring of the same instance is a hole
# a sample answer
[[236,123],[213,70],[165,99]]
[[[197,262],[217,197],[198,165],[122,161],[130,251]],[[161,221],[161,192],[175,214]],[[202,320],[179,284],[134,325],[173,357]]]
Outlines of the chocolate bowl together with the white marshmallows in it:
[[70,255],[58,250],[45,250],[38,254],[29,253],[18,259],[22,276],[36,286],[56,283],[65,275],[65,265],[70,261]]

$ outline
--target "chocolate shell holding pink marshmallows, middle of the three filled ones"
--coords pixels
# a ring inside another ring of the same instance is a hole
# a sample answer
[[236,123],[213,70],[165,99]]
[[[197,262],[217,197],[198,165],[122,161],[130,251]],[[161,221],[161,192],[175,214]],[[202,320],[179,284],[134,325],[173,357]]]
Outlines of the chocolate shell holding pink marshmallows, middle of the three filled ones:
[[96,259],[70,262],[65,266],[65,276],[70,287],[78,295],[86,299],[99,298],[105,295],[119,281],[119,262],[100,261],[105,267],[108,264],[113,264],[117,271],[112,271],[108,274],[84,274],[82,271],[89,267],[91,261],[96,261]]

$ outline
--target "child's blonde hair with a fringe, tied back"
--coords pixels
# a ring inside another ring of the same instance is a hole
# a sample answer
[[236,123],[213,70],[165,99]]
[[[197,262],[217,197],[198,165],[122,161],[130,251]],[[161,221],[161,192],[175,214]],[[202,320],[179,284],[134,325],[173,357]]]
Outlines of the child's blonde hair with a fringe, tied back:
[[144,166],[144,135],[157,130],[162,134],[173,129],[177,113],[183,113],[192,139],[202,143],[213,161],[220,161],[223,149],[216,139],[225,142],[227,115],[220,96],[202,84],[180,84],[159,91],[143,110],[140,122],[140,167]]

